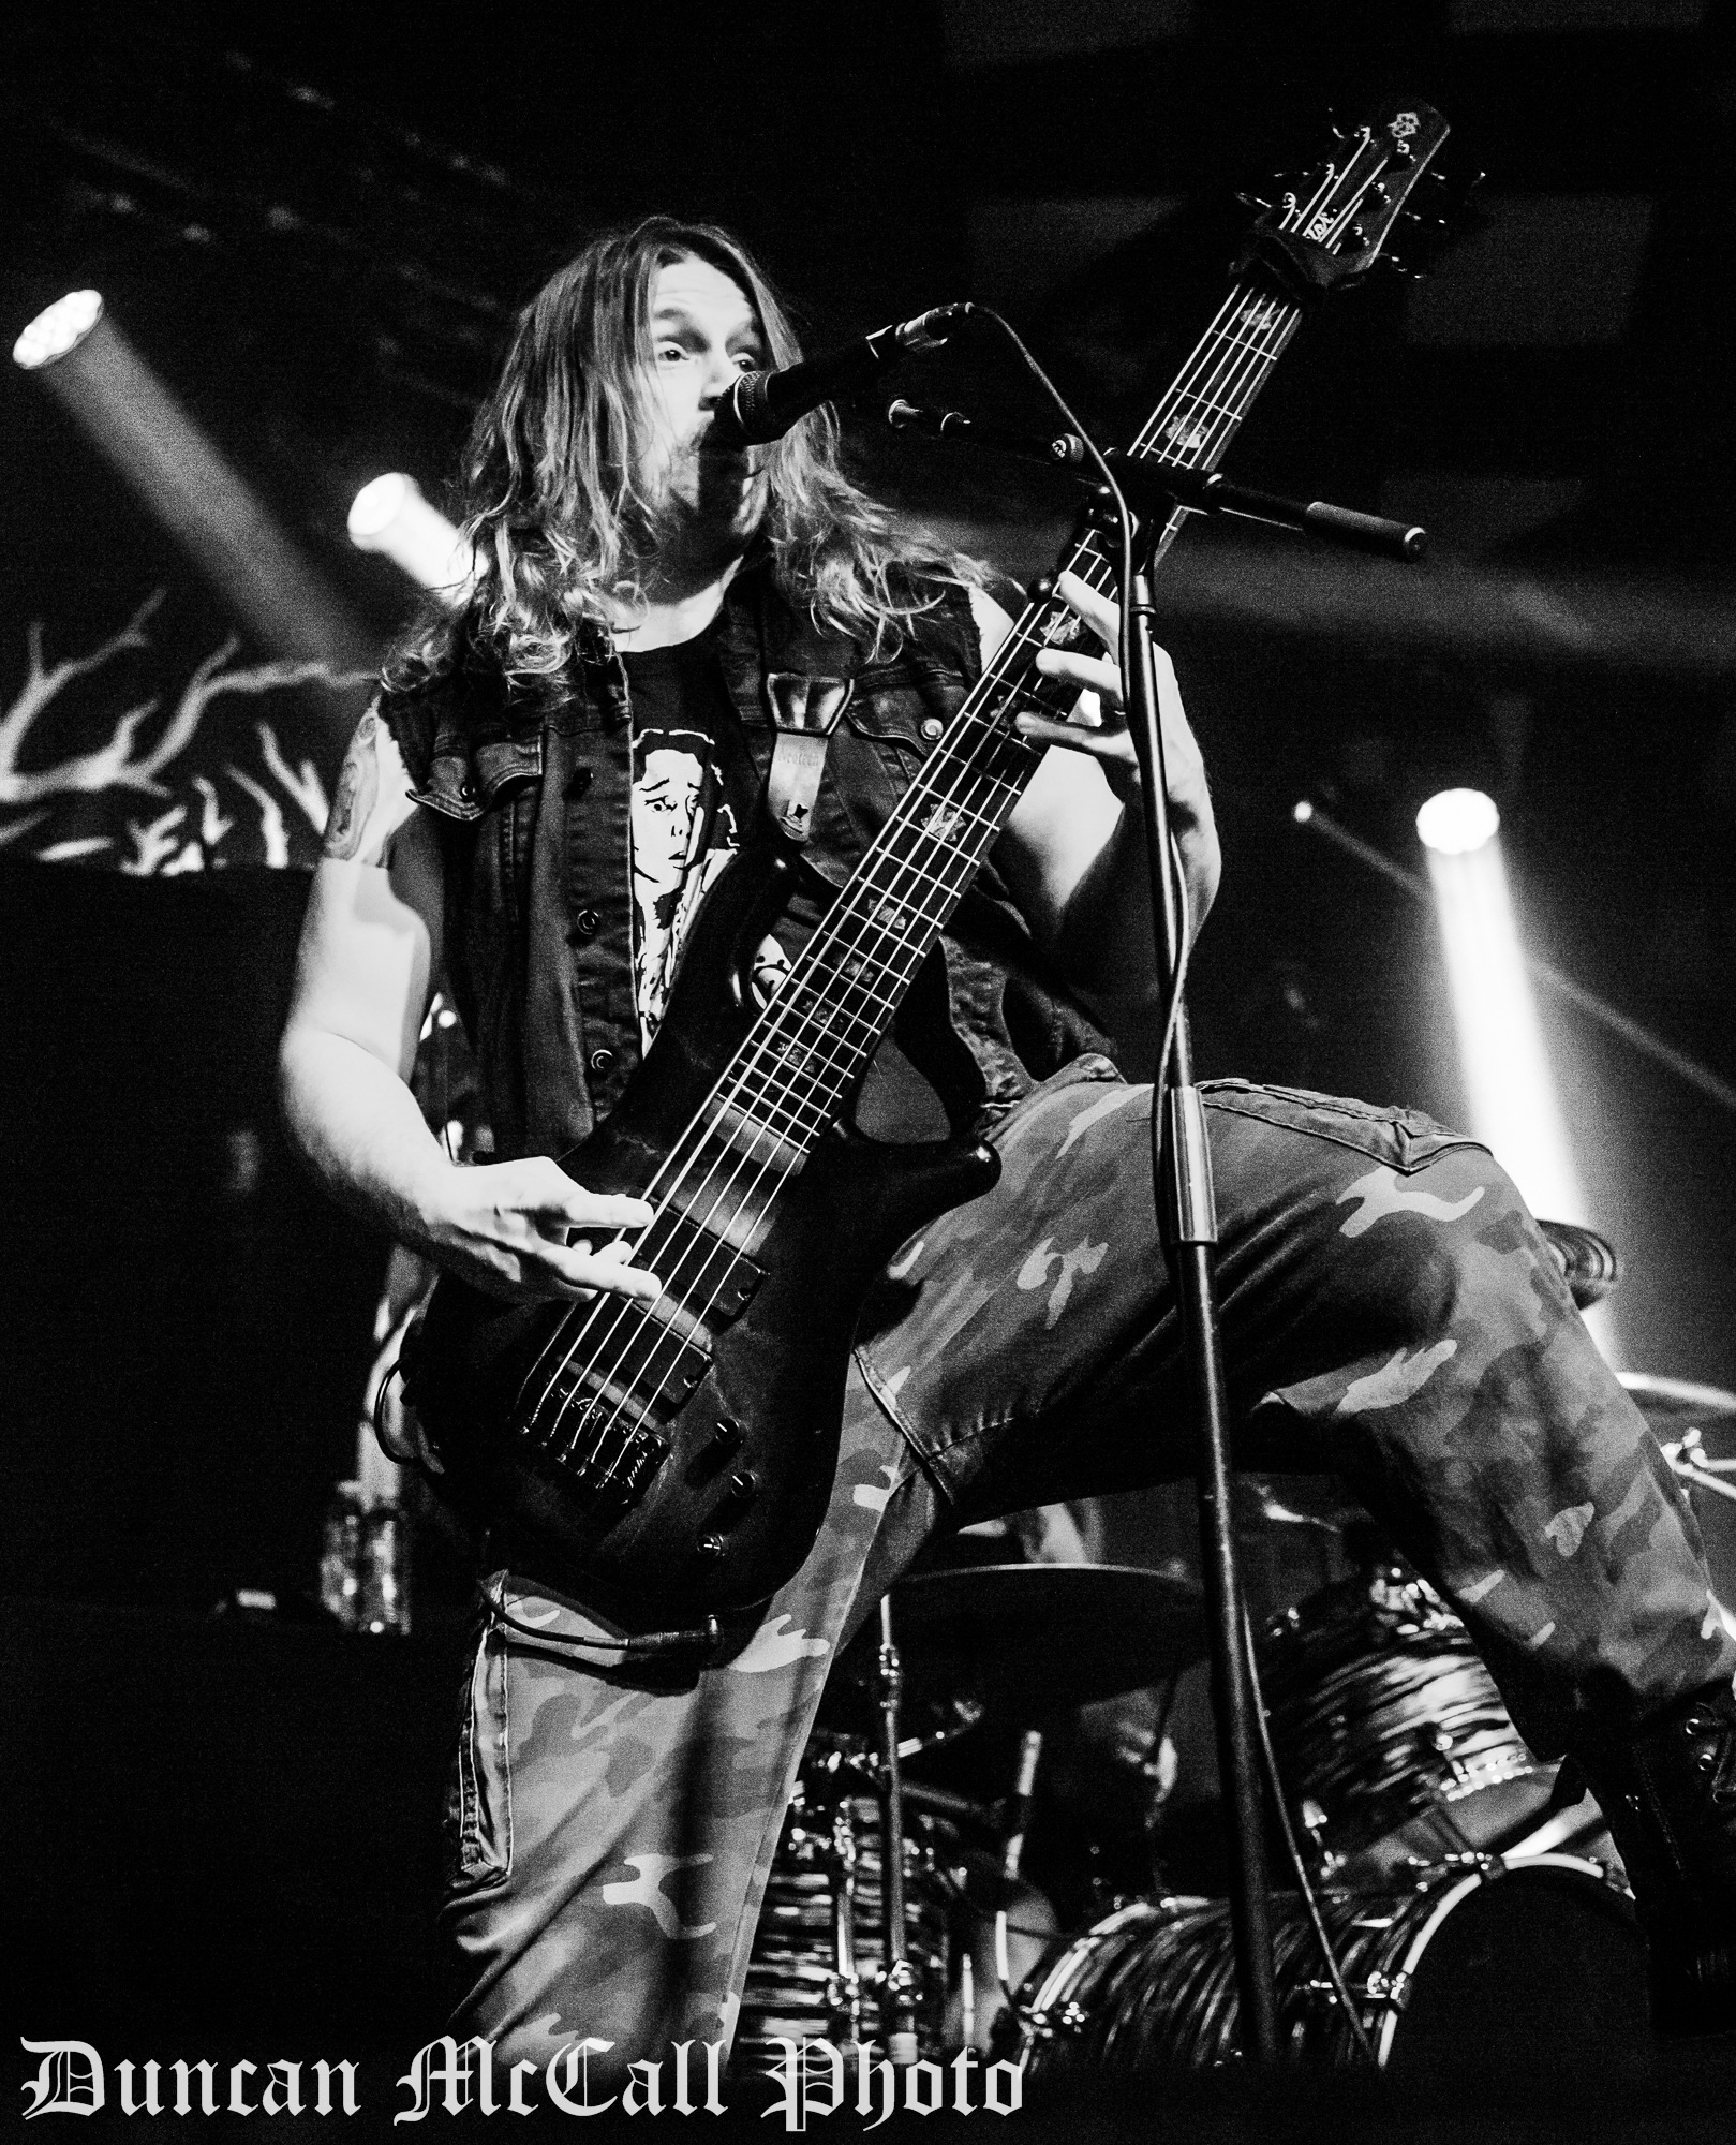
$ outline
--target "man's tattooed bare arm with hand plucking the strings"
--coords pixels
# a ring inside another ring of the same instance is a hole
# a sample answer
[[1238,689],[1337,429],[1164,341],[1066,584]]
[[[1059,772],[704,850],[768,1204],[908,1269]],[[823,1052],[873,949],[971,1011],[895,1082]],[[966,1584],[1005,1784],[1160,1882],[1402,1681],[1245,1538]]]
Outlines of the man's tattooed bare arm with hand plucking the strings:
[[641,1199],[587,1193],[544,1156],[459,1169],[422,1122],[409,1072],[439,931],[439,843],[369,710],[313,875],[279,1051],[291,1139],[339,1203],[495,1296],[654,1298],[624,1244],[592,1253],[592,1236],[645,1227]]

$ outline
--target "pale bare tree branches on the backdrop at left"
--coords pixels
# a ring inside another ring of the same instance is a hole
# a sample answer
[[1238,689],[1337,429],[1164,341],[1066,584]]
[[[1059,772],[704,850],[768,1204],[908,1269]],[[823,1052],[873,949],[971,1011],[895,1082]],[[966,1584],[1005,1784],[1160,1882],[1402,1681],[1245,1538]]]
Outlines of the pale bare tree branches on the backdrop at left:
[[[28,854],[43,862],[94,860],[116,864],[133,875],[167,875],[204,871],[238,862],[236,828],[257,832],[261,860],[283,869],[291,862],[285,798],[306,819],[315,839],[326,826],[328,798],[319,770],[311,759],[291,764],[268,721],[255,721],[259,766],[249,770],[236,759],[199,774],[176,770],[176,761],[199,738],[212,706],[225,697],[257,699],[304,686],[347,691],[366,680],[366,671],[341,671],[330,663],[268,661],[236,663],[240,639],[227,635],[180,689],[161,727],[163,695],[129,706],[114,723],[109,738],[92,751],[36,759],[32,746],[49,738],[56,716],[69,712],[71,691],[122,654],[150,654],[148,626],[165,601],[156,588],[133,611],[126,624],[88,654],[47,663],[43,656],[43,624],[36,620],[26,635],[26,676],[17,697],[0,714],[0,847],[26,849],[26,837],[39,834],[41,845]],[[41,725],[41,727],[39,727]],[[146,729],[152,725],[154,734]],[[178,776],[178,779],[176,779]],[[216,779],[231,781],[244,796],[240,807],[227,800]],[[90,798],[103,792],[161,800],[167,809],[150,817],[126,819],[120,834],[73,834],[64,841],[41,839],[49,832],[54,807],[69,798]],[[283,796],[279,796],[283,792]],[[19,813],[19,817],[11,817]],[[229,847],[225,847],[225,843]]]

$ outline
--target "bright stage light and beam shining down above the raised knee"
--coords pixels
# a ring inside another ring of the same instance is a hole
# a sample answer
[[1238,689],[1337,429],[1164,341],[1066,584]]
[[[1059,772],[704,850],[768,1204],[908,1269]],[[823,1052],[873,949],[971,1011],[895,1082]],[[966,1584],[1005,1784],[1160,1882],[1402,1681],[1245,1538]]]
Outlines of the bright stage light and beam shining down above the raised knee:
[[[1498,830],[1500,813],[1481,789],[1445,789],[1417,813],[1453,1000],[1466,1128],[1487,1143],[1532,1214],[1588,1223]],[[1595,1306],[1586,1323],[1610,1353],[1610,1306]]]

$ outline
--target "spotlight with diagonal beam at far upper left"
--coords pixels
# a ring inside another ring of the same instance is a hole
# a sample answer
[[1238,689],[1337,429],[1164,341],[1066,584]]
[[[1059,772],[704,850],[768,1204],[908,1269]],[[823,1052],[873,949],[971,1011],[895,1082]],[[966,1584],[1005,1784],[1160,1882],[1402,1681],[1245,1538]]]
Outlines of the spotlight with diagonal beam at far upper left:
[[[69,292],[13,345],[150,513],[276,654],[373,671],[379,646],[302,558],[116,326],[94,290]],[[332,708],[345,734],[354,710]]]

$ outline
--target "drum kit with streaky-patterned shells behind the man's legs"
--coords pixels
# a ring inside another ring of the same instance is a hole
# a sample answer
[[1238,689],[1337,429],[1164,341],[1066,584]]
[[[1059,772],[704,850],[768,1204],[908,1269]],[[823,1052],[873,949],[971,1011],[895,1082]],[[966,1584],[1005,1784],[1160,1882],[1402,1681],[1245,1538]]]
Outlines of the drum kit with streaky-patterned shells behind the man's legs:
[[[1622,1384],[1689,1499],[1723,1519],[1736,1394],[1642,1373]],[[1254,1641],[1307,1877],[1273,1894],[1286,2053],[1573,2066],[1586,2048],[1644,2046],[1631,1898],[1573,1767],[1526,1748],[1460,1617],[1363,1514],[1318,1499],[1297,1512],[1288,1491],[1279,1504],[1249,1486],[1262,1525],[1325,1529],[1350,1566]],[[892,1589],[874,1637],[827,1686],[767,1883],[739,2051],[769,2053],[778,2036],[879,2040],[894,2061],[979,2048],[1031,2076],[1234,2059],[1228,1905],[1204,1885],[1170,1890],[1162,1791],[1149,1881],[1099,1885],[1078,1926],[1061,1928],[1024,1868],[1033,1810],[1037,1838],[1091,1823],[1089,1800],[1035,1793],[1046,1742],[1065,1742],[1093,1701],[1153,1684],[1172,1695],[1207,1650],[1196,1587],[1097,1564],[926,1570]],[[962,1789],[932,1778],[958,1780],[975,1744],[999,1765],[1009,1731],[1001,1793],[969,1763]],[[952,1763],[937,1767],[937,1752]],[[1155,1782],[1162,1767],[1144,1770]]]

